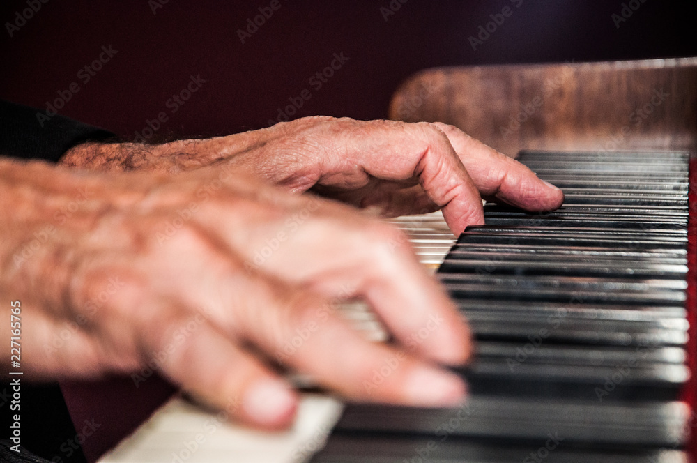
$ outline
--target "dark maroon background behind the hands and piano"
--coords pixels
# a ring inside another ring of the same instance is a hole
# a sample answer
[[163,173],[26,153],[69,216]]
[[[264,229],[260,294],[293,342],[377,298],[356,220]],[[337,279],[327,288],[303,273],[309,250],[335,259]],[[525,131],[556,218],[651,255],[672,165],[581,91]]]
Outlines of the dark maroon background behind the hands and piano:
[[[697,56],[694,0],[645,0],[619,29],[611,18],[619,0],[523,0],[476,51],[468,37],[513,2],[409,0],[385,21],[380,8],[390,0],[279,0],[242,44],[237,30],[269,1],[169,0],[153,14],[148,0],[49,0],[13,37],[4,24],[26,0],[0,1],[0,98],[43,108],[77,82],[61,114],[128,138],[159,112],[169,120],[155,139],[261,128],[304,89],[312,98],[295,117],[381,118],[399,82],[431,66]],[[102,45],[118,53],[84,84],[77,72]],[[308,79],[342,52],[348,61],[314,90]],[[206,83],[172,114],[166,101],[190,75]],[[124,379],[63,391],[76,423],[104,423],[85,443],[93,460],[171,390]]]

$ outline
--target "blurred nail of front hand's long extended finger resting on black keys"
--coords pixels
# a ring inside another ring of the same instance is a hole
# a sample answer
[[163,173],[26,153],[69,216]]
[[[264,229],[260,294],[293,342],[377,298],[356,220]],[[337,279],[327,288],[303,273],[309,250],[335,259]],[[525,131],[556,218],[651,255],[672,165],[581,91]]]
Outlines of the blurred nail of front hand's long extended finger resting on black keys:
[[405,384],[407,400],[421,407],[447,407],[464,402],[467,386],[456,374],[416,367]]

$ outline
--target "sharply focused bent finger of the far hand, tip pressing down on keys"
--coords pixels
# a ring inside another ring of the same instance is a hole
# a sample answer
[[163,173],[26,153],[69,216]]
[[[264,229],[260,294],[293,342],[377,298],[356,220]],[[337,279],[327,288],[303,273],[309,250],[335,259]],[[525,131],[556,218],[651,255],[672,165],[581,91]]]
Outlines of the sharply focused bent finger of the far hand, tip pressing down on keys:
[[[332,132],[320,185],[360,188],[369,177],[390,181],[418,179],[431,200],[443,208],[452,232],[484,223],[475,183],[442,130],[430,123],[339,120]],[[323,146],[323,145],[320,145]],[[363,177],[356,168],[365,172]]]

